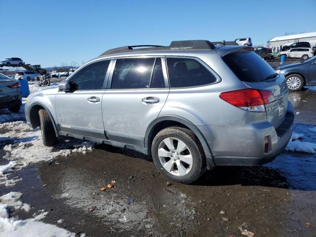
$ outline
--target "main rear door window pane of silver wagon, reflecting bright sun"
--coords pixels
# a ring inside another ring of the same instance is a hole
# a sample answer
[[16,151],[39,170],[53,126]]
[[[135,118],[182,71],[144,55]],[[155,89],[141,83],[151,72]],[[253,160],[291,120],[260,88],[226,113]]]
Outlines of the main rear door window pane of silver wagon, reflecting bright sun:
[[117,59],[111,89],[149,88],[155,58]]

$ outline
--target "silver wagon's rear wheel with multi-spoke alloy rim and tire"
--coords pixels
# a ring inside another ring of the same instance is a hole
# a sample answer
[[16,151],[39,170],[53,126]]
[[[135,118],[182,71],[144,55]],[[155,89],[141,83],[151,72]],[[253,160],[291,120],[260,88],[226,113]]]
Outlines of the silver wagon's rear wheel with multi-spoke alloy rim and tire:
[[175,182],[189,184],[206,170],[206,158],[197,136],[183,127],[168,127],[155,136],[152,157],[159,172]]

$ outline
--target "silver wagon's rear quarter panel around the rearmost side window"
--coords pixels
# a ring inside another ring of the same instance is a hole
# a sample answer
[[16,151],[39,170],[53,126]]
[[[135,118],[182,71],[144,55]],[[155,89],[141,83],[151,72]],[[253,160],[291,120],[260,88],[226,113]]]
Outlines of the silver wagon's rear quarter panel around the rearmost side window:
[[220,77],[220,82],[198,87],[170,88],[159,116],[176,115],[195,125],[236,125],[245,111],[228,104],[219,95],[246,86],[236,78],[215,50],[191,56],[206,63]]

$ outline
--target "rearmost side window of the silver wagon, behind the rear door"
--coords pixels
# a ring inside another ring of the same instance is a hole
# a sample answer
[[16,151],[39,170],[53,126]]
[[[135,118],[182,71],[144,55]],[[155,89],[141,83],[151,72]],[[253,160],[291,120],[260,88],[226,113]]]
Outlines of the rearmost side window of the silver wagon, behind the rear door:
[[216,81],[215,76],[195,59],[167,57],[167,68],[173,88],[201,86]]

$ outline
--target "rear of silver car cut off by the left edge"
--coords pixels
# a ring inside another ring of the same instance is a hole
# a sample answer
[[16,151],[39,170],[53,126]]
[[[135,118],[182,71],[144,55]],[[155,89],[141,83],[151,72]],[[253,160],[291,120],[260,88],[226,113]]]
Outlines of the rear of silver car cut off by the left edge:
[[22,105],[20,82],[0,74],[0,110],[19,112]]

